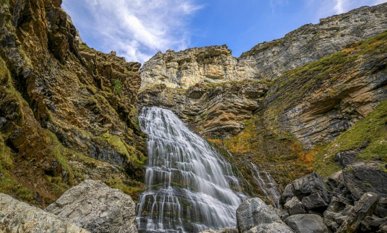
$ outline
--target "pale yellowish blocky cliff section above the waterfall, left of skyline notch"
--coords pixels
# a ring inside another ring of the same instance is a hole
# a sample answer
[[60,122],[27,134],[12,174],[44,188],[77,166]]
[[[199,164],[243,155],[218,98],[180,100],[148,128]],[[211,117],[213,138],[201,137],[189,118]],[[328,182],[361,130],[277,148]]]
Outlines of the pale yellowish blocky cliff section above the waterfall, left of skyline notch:
[[201,82],[238,81],[233,74],[236,64],[226,45],[158,52],[141,67],[141,87],[166,84],[187,89]]

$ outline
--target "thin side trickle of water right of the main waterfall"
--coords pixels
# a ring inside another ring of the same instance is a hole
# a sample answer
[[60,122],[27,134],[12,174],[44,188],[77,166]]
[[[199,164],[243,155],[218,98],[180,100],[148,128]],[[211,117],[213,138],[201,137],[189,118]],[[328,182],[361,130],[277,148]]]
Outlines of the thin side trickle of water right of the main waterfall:
[[273,177],[268,172],[263,172],[265,177],[262,178],[259,168],[254,164],[251,164],[251,167],[253,178],[262,190],[263,195],[273,203],[275,208],[279,209],[280,190],[275,184]]

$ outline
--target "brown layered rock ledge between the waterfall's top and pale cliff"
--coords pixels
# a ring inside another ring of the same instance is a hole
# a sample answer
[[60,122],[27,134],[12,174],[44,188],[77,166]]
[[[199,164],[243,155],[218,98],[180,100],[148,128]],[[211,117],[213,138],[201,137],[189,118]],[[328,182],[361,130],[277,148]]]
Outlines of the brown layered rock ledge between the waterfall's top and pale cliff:
[[201,135],[225,138],[244,129],[268,88],[266,82],[196,84],[188,90],[159,85],[142,91],[138,103],[171,109]]

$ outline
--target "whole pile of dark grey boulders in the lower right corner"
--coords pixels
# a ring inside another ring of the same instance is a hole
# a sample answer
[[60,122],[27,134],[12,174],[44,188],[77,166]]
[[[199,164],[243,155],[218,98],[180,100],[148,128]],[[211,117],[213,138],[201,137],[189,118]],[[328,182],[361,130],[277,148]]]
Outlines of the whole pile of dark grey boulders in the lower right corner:
[[[375,183],[376,187],[368,185],[370,179],[386,183],[383,176],[375,176],[380,174],[375,166],[380,168],[380,165],[380,162],[353,163],[328,177],[326,182],[316,174],[294,180],[283,192],[282,198],[287,200],[281,213],[286,218],[284,222],[295,232],[328,232],[328,229],[343,233],[384,232],[387,202],[380,196],[386,196],[387,190]],[[344,178],[348,172],[351,175]]]

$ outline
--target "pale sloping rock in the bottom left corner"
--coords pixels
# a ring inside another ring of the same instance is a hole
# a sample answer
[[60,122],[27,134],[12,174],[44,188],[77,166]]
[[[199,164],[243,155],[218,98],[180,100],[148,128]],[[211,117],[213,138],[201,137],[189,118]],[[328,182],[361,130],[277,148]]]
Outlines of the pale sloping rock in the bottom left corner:
[[0,232],[88,233],[61,217],[0,193]]

